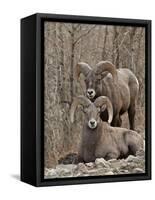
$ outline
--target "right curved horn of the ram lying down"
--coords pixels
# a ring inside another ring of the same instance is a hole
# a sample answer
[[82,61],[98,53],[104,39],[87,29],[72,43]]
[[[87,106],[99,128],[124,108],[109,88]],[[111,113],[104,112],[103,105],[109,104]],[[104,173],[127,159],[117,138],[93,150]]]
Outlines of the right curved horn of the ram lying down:
[[102,107],[103,105],[106,105],[109,115],[108,123],[110,124],[113,119],[113,107],[109,98],[105,96],[100,96],[95,100],[94,104],[96,107]]

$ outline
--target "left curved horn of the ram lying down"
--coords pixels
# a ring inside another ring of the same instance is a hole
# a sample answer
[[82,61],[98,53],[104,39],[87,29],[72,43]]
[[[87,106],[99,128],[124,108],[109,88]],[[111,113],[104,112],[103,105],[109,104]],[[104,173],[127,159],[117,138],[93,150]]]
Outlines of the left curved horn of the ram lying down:
[[75,97],[71,105],[71,111],[70,111],[71,122],[72,123],[74,122],[74,113],[78,105],[82,105],[85,107],[85,106],[89,106],[90,104],[91,104],[91,101],[85,96]]

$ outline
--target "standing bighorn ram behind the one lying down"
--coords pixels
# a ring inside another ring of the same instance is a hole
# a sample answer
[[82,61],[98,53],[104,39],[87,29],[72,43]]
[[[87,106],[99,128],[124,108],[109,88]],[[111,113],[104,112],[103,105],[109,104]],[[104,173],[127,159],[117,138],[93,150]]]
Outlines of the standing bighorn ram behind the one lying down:
[[[77,64],[77,78],[85,76],[86,96],[94,101],[99,96],[107,96],[113,105],[112,126],[121,126],[121,115],[128,111],[130,129],[135,128],[135,106],[139,83],[127,68],[116,69],[109,61],[99,62],[93,69],[86,63]],[[82,79],[81,79],[82,80]],[[107,110],[101,112],[101,119],[107,121]]]

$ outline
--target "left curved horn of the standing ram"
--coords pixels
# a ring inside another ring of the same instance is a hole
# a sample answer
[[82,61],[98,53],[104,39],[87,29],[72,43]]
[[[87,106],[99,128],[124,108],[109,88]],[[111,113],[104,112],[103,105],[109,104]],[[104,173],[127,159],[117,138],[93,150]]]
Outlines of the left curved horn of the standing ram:
[[82,73],[84,76],[87,76],[88,73],[92,70],[92,68],[84,62],[79,62],[77,64],[77,71],[76,71],[76,77],[79,78],[80,74]]

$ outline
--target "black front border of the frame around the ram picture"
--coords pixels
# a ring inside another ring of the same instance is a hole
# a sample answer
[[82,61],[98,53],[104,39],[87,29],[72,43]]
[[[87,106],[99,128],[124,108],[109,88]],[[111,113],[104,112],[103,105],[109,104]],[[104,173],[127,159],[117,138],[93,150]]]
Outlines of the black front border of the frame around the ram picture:
[[[151,179],[151,21],[90,16],[36,14],[36,186],[54,186]],[[44,179],[44,22],[136,26],[145,28],[145,119],[146,170],[143,174],[123,174],[76,178]]]

